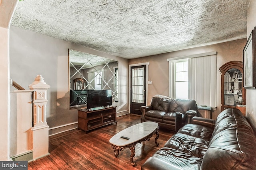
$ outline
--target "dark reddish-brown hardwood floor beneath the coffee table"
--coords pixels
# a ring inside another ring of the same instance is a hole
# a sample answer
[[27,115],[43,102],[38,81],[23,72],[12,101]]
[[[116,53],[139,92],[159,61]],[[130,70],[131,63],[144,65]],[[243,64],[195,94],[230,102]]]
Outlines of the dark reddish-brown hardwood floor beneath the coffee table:
[[119,131],[140,123],[138,115],[117,117],[113,123],[88,132],[75,129],[49,138],[50,155],[28,163],[29,170],[140,170],[141,165],[174,134],[173,131],[159,129],[157,147],[154,138],[138,143],[135,148],[133,167],[130,164],[130,149],[122,150],[114,156],[109,139]]

